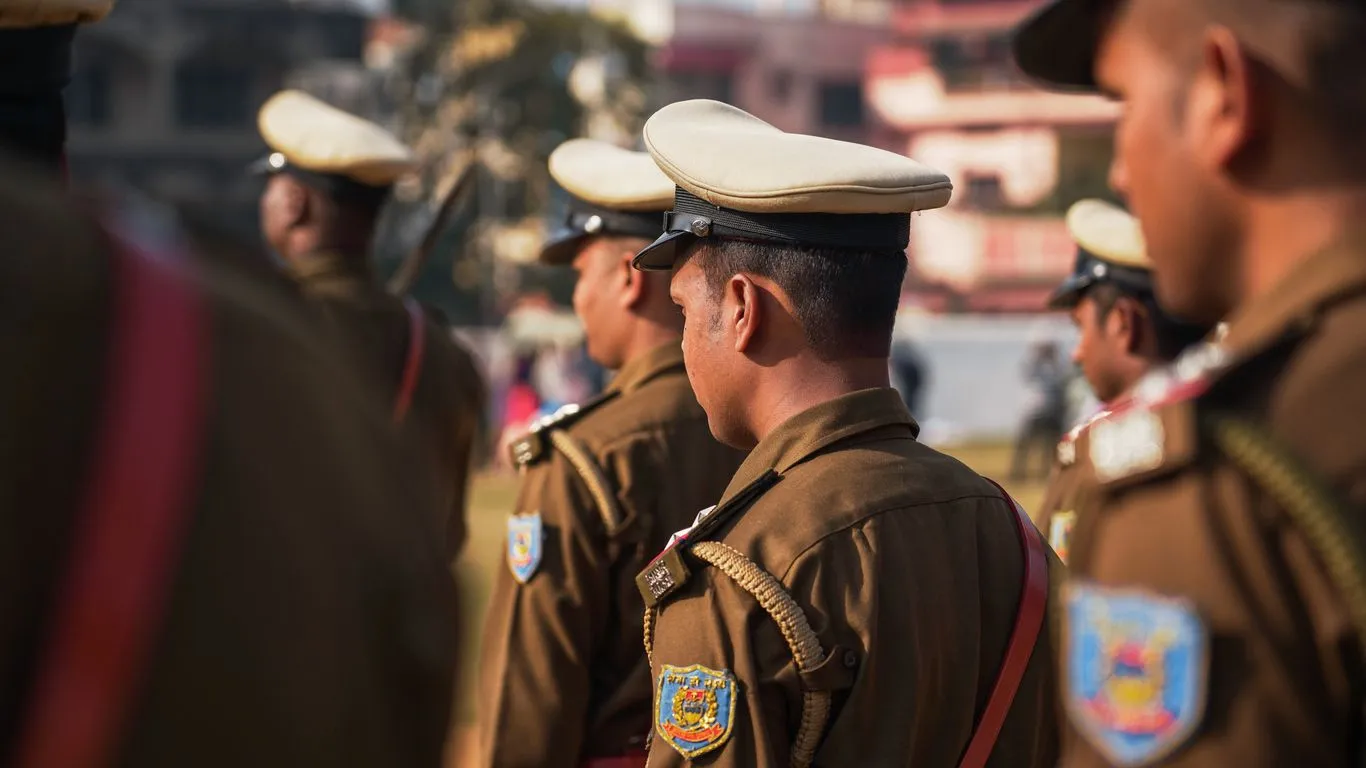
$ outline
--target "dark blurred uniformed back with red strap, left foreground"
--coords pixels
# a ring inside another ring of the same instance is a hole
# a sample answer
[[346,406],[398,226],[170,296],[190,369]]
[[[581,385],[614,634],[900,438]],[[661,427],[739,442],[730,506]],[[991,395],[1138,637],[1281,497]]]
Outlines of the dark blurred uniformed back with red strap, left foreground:
[[303,307],[0,160],[0,750],[437,767],[434,493]]

